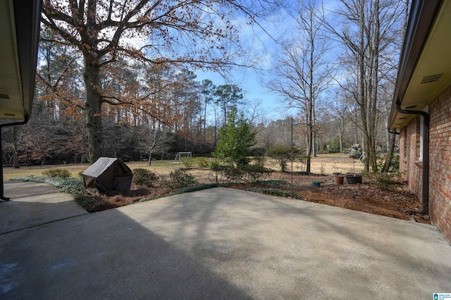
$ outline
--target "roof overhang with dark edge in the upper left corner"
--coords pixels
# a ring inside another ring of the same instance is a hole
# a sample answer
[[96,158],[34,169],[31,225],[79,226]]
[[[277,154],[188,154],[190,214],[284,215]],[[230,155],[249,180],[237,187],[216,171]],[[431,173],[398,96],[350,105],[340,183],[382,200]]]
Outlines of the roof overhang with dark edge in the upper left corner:
[[30,118],[42,0],[0,1],[0,118]]

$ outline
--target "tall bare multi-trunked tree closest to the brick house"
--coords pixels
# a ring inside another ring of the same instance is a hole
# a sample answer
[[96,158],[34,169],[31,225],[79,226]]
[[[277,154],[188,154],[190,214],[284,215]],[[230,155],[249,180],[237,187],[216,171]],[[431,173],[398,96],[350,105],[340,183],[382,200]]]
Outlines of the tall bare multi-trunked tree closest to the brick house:
[[[391,47],[400,38],[404,9],[397,0],[340,1],[340,25],[327,23],[328,29],[340,39],[347,51],[348,61],[357,69],[352,91],[359,106],[364,132],[364,151],[368,154],[365,171],[376,172],[376,135],[378,128],[378,99],[380,87],[387,80],[390,63],[398,54]],[[356,68],[357,67],[357,68]]]

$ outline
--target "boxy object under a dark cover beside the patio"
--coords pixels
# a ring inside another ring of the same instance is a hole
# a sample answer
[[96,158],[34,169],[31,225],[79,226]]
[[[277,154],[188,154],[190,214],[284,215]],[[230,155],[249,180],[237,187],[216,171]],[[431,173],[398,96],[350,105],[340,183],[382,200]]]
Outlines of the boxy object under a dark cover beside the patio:
[[104,193],[130,189],[133,173],[120,159],[101,157],[82,173],[82,177],[85,187]]

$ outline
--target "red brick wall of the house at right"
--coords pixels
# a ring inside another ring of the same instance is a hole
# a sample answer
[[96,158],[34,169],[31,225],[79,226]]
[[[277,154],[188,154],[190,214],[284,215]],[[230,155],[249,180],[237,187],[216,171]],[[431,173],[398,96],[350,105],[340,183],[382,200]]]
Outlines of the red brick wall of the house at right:
[[[451,242],[451,86],[429,104],[429,115],[429,216]],[[419,120],[417,116],[401,130],[400,170],[421,201]]]

